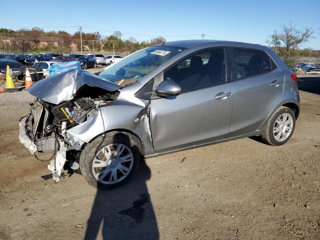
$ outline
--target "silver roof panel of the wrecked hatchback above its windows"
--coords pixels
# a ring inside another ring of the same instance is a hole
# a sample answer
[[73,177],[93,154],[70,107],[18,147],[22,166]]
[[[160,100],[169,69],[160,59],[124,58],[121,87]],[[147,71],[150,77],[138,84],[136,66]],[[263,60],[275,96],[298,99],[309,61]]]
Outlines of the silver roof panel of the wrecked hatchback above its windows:
[[212,45],[236,45],[236,46],[247,46],[247,47],[259,47],[260,44],[252,44],[246,42],[238,42],[238,41],[226,41],[226,40],[212,40],[212,39],[194,39],[194,40],[179,40],[179,41],[168,41],[160,44],[155,44],[154,46],[175,46],[175,47],[183,47],[189,48],[196,45],[212,43]]

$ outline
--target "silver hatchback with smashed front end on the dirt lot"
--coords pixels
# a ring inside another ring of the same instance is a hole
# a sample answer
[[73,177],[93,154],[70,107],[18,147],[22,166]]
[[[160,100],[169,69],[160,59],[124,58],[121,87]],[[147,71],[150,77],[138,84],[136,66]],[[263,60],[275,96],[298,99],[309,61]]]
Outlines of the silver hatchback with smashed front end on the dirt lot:
[[95,74],[70,70],[36,82],[19,139],[53,150],[98,188],[128,180],[141,158],[260,135],[282,145],[299,115],[297,77],[268,47],[183,40],[141,49]]

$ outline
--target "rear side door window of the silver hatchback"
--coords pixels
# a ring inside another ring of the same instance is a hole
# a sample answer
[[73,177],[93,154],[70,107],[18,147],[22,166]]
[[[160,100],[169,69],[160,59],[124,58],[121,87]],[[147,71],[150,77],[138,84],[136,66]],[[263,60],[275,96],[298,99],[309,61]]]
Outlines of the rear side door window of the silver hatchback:
[[234,74],[232,79],[252,76],[272,69],[271,59],[260,50],[233,48]]

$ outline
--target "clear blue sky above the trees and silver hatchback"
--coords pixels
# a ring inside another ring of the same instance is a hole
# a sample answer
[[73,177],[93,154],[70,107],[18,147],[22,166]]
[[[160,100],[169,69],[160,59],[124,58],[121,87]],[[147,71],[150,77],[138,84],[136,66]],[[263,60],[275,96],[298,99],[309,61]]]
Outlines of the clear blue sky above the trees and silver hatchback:
[[[83,3],[81,3],[83,2]],[[0,27],[39,26],[45,31],[84,32],[147,40],[223,39],[266,44],[265,39],[292,21],[315,31],[304,47],[320,49],[320,0],[14,0],[0,1]]]

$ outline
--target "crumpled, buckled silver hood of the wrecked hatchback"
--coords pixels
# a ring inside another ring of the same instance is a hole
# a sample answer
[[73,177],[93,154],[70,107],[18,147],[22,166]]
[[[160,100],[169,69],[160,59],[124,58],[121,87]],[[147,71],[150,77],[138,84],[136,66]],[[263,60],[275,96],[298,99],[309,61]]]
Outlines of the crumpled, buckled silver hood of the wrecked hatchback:
[[59,104],[73,99],[74,94],[84,85],[96,86],[109,92],[121,88],[90,72],[72,69],[37,81],[29,87],[28,92],[43,101]]

